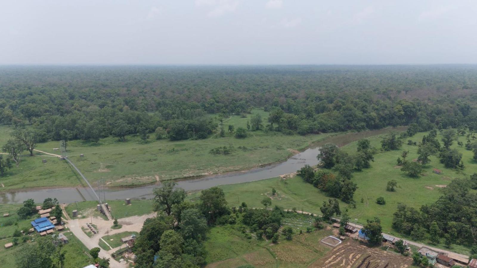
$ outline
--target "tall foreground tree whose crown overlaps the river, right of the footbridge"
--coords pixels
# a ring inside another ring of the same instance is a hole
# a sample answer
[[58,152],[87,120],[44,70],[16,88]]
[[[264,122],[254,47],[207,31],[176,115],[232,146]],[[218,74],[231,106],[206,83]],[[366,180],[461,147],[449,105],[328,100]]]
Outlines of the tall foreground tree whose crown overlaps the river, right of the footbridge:
[[177,183],[166,181],[159,188],[155,188],[153,193],[158,209],[163,209],[167,216],[171,215],[171,208],[175,204],[180,204],[186,198],[186,191],[176,188]]

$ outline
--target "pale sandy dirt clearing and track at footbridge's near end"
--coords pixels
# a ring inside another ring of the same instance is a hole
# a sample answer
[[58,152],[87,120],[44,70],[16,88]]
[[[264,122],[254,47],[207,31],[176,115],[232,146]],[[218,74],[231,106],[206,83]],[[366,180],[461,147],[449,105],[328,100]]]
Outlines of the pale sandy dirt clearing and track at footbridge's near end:
[[[101,237],[105,236],[109,233],[109,235],[114,235],[122,232],[140,232],[141,228],[143,227],[144,221],[146,218],[154,217],[156,213],[146,214],[142,216],[131,216],[127,218],[118,219],[118,223],[123,225],[121,229],[111,229],[112,222],[104,220],[100,217],[93,218],[93,224],[98,227],[98,233],[94,234],[93,237],[88,237],[83,230],[81,229],[82,226],[86,226],[87,223],[91,222],[90,218],[83,218],[83,219],[73,219],[68,221],[66,226],[70,229],[73,234],[83,242],[84,246],[88,249],[93,247],[99,247],[98,243]],[[99,252],[99,258],[109,258],[109,263],[111,268],[127,268],[129,267],[128,262],[120,263],[114,258],[111,257],[111,253],[115,250],[110,249],[108,251],[101,249]]]

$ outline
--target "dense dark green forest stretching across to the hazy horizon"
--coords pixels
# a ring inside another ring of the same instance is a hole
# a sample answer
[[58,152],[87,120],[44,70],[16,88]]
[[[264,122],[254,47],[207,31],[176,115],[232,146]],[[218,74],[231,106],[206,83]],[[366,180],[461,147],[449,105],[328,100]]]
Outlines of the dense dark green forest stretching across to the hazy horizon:
[[[205,138],[207,113],[270,111],[253,129],[320,133],[417,123],[477,128],[477,66],[4,66],[4,124],[43,139],[156,131]],[[266,125],[265,125],[266,124]],[[159,129],[158,129],[159,128]]]

